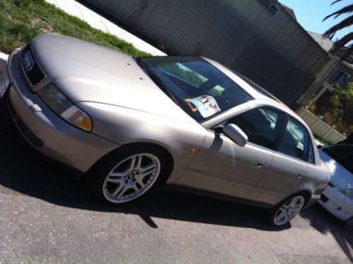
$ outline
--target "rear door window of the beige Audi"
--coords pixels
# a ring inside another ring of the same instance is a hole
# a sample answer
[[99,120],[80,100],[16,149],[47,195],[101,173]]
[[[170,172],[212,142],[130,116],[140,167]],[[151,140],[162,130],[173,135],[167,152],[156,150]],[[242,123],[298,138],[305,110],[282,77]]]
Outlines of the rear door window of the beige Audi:
[[277,151],[303,161],[308,161],[308,156],[311,156],[310,159],[313,162],[313,149],[309,146],[306,129],[298,121],[289,117]]

